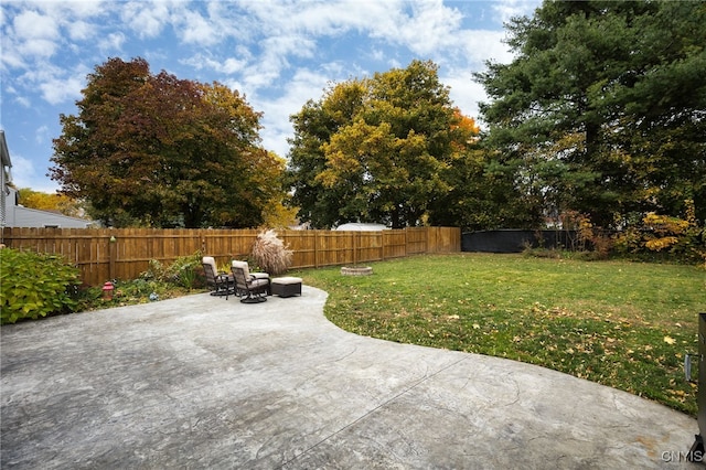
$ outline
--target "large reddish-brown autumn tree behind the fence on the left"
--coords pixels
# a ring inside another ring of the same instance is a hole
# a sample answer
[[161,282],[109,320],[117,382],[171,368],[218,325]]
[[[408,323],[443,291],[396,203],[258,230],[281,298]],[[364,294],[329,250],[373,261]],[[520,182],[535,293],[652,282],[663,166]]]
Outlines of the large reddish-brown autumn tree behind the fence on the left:
[[237,92],[110,58],[61,116],[52,179],[114,226],[257,226],[284,162],[259,147],[260,115]]

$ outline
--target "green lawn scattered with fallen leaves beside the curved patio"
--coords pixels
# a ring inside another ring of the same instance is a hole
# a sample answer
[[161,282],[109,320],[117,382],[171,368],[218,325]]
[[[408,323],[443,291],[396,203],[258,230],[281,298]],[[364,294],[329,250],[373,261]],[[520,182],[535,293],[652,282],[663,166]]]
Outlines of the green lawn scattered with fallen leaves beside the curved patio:
[[696,415],[683,362],[698,351],[704,269],[470,253],[371,266],[295,275],[329,292],[325,314],[347,331],[539,364]]

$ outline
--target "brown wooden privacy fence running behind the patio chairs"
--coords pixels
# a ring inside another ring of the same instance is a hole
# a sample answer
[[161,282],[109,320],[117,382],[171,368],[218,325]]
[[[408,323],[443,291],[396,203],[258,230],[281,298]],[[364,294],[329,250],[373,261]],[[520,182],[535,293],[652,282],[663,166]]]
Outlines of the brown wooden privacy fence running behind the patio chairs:
[[[62,255],[82,279],[135,279],[151,259],[170,264],[196,252],[218,265],[249,256],[257,229],[23,228],[2,229],[8,247]],[[378,261],[422,253],[461,250],[456,227],[414,227],[382,232],[277,231],[293,252],[292,268]]]

